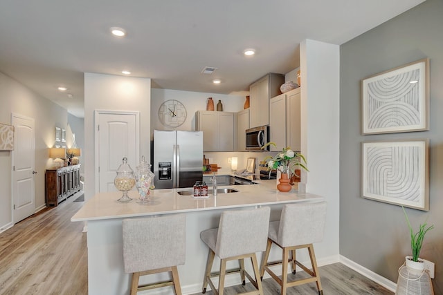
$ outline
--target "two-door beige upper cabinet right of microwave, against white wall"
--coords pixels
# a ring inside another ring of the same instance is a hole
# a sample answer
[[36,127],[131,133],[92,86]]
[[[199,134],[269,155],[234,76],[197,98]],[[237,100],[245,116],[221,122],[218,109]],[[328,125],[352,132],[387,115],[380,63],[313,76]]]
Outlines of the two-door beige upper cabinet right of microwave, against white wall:
[[300,151],[300,136],[300,88],[296,88],[271,98],[269,137],[275,143],[271,151],[282,151],[287,146]]

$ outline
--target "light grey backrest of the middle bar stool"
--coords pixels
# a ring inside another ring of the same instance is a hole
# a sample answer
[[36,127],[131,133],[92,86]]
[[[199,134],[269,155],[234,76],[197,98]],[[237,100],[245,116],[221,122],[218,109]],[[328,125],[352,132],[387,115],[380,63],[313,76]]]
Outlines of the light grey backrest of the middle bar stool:
[[221,213],[215,254],[228,258],[266,249],[269,207]]

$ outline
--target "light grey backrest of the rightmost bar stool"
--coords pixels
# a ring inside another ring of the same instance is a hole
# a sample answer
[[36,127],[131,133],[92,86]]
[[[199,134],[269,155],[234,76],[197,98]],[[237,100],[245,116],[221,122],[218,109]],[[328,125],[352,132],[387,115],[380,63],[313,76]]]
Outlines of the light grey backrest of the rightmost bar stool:
[[282,247],[321,242],[325,220],[326,202],[286,204],[280,216],[276,242]]

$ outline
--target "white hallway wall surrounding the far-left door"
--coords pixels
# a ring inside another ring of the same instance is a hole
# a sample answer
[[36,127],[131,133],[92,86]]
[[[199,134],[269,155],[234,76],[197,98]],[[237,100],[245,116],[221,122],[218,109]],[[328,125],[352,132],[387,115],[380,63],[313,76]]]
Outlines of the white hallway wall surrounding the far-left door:
[[[52,164],[48,148],[55,143],[55,126],[66,129],[67,111],[0,73],[0,122],[11,124],[11,113],[35,120],[35,210],[45,206],[44,173]],[[0,231],[12,225],[12,152],[0,151]]]

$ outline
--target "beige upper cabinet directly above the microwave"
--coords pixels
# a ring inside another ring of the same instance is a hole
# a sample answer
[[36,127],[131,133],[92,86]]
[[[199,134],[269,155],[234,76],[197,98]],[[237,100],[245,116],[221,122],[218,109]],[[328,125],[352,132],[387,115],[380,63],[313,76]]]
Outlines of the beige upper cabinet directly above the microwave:
[[251,84],[249,87],[250,128],[269,124],[269,99],[280,94],[280,86],[283,83],[284,75],[269,73]]

